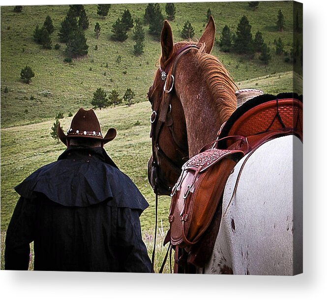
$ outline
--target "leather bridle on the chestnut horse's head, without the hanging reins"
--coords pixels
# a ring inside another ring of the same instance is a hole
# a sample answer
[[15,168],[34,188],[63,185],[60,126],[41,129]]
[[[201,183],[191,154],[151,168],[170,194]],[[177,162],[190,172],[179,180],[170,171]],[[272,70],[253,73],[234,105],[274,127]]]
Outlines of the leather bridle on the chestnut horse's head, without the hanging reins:
[[[159,165],[160,161],[164,160],[170,167],[171,171],[174,172],[177,177],[179,177],[181,172],[181,166],[184,162],[188,160],[188,149],[185,149],[185,146],[183,146],[180,141],[178,141],[178,138],[176,136],[176,133],[173,130],[173,119],[171,117],[171,100],[173,97],[173,90],[174,90],[174,84],[175,84],[175,70],[178,63],[178,60],[186,53],[190,52],[192,49],[198,49],[199,47],[197,45],[187,45],[185,47],[182,47],[178,51],[178,55],[176,59],[174,60],[173,66],[169,69],[166,67],[165,70],[159,67],[159,70],[161,71],[161,80],[165,81],[163,90],[162,90],[162,101],[160,103],[160,111],[156,112],[155,110],[152,111],[150,122],[151,122],[151,132],[150,132],[150,138],[152,138],[152,176],[154,177],[154,186],[153,190],[155,193],[158,192],[159,189],[162,189],[164,191],[168,191],[169,193],[172,191],[171,186],[167,186],[166,182],[163,182],[163,180],[160,179],[160,173],[159,173]],[[167,69],[169,69],[168,72]],[[161,133],[161,130],[163,128],[163,125],[166,123],[167,127],[170,129],[170,133],[172,136],[172,139],[174,143],[177,146],[178,152],[182,154],[183,160],[181,164],[177,164],[174,162],[170,157],[168,157],[164,151],[159,146],[159,136]]]

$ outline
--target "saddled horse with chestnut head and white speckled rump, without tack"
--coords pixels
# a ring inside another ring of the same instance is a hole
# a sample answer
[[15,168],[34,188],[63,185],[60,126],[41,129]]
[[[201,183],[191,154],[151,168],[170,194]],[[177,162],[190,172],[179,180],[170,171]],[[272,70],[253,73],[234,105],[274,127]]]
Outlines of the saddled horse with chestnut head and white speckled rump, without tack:
[[[216,139],[237,108],[235,83],[210,55],[214,40],[212,17],[198,43],[174,44],[171,27],[164,23],[160,66],[148,92],[148,177],[157,194],[171,193],[184,162]],[[238,162],[226,183],[220,230],[206,272],[291,275],[302,270],[301,147],[293,135],[279,137]]]

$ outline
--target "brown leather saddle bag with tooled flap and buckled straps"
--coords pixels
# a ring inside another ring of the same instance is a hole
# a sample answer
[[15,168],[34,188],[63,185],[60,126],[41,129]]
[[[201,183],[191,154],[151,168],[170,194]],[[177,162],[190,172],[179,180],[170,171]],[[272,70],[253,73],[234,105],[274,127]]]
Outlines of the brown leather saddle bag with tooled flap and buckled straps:
[[169,211],[173,246],[187,249],[200,240],[218,207],[226,180],[243,155],[242,150],[208,149],[183,165]]

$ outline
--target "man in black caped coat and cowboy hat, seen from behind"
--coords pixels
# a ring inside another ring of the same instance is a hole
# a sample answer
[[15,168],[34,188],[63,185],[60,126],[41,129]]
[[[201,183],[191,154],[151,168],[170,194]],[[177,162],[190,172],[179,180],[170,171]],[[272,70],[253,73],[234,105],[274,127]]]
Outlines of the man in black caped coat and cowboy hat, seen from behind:
[[140,215],[149,204],[103,149],[93,110],[81,108],[65,135],[58,161],[41,167],[15,187],[20,195],[8,225],[5,269],[151,272]]

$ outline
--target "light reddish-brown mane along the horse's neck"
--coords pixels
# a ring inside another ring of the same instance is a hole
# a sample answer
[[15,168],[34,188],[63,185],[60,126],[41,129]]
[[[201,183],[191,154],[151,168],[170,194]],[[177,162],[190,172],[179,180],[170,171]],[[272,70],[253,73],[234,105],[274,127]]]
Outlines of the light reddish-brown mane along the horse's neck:
[[237,108],[235,91],[238,87],[221,61],[205,52],[205,46],[201,45],[195,60],[212,98],[219,104],[220,120],[227,120]]

